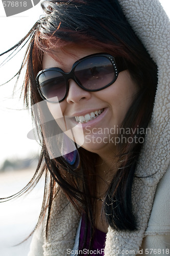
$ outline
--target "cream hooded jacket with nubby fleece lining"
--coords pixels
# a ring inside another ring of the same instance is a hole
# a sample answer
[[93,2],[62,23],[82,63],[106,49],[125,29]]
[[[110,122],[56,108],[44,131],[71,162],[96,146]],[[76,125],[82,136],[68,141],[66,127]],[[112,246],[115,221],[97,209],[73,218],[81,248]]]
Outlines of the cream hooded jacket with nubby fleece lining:
[[[109,227],[104,255],[170,255],[170,23],[158,0],[119,0],[119,3],[157,63],[158,89],[149,124],[151,133],[145,137],[136,169],[136,176],[147,178],[135,178],[133,183],[133,206],[139,229],[130,232]],[[29,256],[69,255],[80,217],[61,191],[53,204],[52,216],[49,240],[44,239],[41,226],[34,233]]]

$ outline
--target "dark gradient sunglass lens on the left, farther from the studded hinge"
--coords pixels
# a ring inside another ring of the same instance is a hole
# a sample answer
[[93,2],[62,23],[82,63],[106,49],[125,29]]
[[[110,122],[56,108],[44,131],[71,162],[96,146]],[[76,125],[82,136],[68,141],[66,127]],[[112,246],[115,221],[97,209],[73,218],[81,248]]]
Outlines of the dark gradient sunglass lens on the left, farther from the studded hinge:
[[60,101],[66,93],[66,82],[63,75],[58,71],[47,70],[39,78],[39,88],[45,99]]

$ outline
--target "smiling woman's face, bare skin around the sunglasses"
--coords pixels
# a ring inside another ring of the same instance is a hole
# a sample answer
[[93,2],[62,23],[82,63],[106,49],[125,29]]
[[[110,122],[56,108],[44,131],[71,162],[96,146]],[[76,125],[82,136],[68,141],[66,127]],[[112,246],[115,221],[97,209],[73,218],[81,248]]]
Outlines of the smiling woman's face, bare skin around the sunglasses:
[[[45,54],[43,69],[57,67],[69,72],[75,61],[93,53],[99,53],[99,50],[67,47],[66,52],[56,52],[58,61]],[[63,131],[72,128],[79,145],[99,155],[110,154],[116,152],[120,142],[118,128],[137,91],[128,70],[120,72],[111,86],[96,92],[85,91],[70,79],[67,97],[60,103],[47,102],[47,106]],[[59,108],[63,122],[57,120]]]

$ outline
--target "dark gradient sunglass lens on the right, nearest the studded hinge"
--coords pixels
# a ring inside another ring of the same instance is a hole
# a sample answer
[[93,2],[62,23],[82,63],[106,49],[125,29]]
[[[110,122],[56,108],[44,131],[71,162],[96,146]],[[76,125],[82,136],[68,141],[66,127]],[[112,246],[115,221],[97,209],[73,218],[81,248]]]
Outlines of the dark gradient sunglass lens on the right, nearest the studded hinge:
[[114,81],[115,72],[105,56],[93,56],[82,60],[75,69],[81,85],[88,90],[99,90]]

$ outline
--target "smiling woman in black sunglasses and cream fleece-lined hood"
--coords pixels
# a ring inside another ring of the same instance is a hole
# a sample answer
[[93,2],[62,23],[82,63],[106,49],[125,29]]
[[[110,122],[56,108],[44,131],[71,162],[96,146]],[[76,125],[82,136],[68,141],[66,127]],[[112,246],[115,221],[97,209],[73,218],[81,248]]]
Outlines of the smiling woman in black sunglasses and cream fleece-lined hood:
[[25,99],[42,143],[33,181],[46,172],[29,256],[169,254],[167,16],[151,0],[43,9],[19,43],[30,38]]

